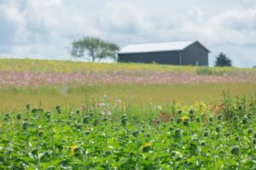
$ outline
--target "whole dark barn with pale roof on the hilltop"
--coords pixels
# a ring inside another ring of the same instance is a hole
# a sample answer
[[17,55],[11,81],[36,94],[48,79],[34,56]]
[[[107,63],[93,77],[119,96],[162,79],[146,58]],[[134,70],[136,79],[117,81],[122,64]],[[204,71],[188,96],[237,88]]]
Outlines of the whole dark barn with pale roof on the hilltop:
[[208,65],[207,49],[201,42],[160,42],[131,44],[118,54],[119,62],[164,65]]

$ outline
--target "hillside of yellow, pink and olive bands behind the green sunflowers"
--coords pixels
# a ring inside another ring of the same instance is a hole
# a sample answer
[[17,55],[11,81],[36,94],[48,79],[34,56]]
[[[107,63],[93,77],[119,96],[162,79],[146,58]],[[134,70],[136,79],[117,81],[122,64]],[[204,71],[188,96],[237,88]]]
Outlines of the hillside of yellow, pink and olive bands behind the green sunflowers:
[[140,105],[216,103],[223,91],[255,94],[255,83],[255,69],[0,59],[0,110],[26,103],[82,105],[85,97],[104,95]]

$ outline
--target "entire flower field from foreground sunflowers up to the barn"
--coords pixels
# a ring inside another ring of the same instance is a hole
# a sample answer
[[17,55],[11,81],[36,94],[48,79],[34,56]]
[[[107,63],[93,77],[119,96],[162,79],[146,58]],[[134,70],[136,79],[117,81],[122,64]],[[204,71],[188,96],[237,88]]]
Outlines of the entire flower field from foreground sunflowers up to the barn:
[[255,95],[255,69],[0,59],[0,168],[253,169]]

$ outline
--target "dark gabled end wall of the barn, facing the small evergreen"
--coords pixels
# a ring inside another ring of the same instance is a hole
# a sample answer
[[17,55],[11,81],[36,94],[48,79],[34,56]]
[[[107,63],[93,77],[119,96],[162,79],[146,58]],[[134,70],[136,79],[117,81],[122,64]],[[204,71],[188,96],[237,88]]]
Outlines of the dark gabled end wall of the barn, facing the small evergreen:
[[195,42],[182,52],[182,65],[208,65],[208,51]]

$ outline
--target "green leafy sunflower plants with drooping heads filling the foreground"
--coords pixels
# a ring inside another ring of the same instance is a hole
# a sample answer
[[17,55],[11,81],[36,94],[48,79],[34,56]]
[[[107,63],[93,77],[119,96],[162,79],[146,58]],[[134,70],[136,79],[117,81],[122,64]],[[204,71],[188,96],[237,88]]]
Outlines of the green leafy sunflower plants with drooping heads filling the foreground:
[[140,111],[119,101],[109,105],[108,98],[78,111],[26,105],[24,112],[1,117],[0,168],[255,168],[255,99],[224,95],[212,110],[172,103]]

